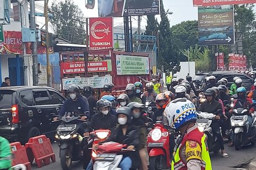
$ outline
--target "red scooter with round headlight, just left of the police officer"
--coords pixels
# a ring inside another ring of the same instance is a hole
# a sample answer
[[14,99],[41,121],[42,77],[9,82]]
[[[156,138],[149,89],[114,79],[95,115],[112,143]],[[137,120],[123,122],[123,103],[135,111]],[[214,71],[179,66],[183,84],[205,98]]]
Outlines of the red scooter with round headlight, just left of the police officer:
[[[153,129],[147,136],[147,149],[149,154],[149,170],[167,169],[170,163],[170,127],[164,126],[161,121],[157,121]],[[174,143],[173,143],[174,145]]]

